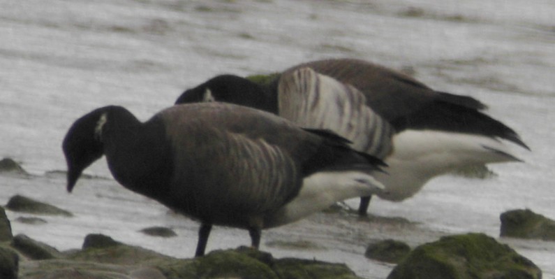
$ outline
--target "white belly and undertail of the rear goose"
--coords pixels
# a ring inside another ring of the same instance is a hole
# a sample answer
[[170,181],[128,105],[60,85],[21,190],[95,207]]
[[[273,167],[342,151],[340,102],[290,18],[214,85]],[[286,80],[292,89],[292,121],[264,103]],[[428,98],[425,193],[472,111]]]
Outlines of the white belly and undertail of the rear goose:
[[476,164],[518,161],[505,141],[487,136],[445,131],[406,130],[393,138],[394,152],[385,159],[384,173],[376,173],[390,201],[416,194],[424,183],[454,169]]

